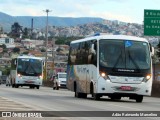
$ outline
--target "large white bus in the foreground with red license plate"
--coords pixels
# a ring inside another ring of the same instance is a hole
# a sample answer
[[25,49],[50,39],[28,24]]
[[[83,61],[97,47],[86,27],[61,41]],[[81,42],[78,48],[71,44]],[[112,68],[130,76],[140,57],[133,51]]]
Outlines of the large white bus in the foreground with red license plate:
[[154,49],[144,38],[92,36],[70,43],[67,88],[75,97],[95,100],[129,97],[142,102],[151,95]]

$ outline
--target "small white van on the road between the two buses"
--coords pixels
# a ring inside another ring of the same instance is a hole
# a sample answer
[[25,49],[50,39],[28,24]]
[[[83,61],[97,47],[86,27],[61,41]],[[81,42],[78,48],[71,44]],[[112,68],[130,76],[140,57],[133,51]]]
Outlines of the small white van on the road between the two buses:
[[65,72],[58,72],[53,80],[53,89],[59,90],[59,88],[66,87],[67,74]]

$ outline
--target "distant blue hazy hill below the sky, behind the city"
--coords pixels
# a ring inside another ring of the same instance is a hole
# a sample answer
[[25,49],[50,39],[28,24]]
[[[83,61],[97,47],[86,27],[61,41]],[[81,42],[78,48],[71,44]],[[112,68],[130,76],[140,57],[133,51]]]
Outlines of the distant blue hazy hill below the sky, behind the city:
[[[31,21],[33,19],[34,28],[44,28],[46,26],[46,16],[10,16],[0,12],[0,26],[3,27],[5,32],[10,31],[11,25],[18,22],[21,26],[31,28]],[[51,26],[75,26],[86,23],[102,22],[102,18],[93,17],[48,17],[48,24]]]

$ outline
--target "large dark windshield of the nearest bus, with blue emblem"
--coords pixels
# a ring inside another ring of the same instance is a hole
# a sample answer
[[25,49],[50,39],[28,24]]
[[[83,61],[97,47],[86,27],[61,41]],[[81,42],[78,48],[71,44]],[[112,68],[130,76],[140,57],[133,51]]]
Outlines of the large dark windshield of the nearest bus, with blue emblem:
[[123,70],[150,69],[150,52],[147,42],[131,40],[100,40],[100,66]]

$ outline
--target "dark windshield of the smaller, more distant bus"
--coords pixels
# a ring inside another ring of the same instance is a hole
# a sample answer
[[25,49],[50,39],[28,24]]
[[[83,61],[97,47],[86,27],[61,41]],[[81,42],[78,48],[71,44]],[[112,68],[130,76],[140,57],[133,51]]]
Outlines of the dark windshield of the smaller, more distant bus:
[[38,59],[19,58],[17,73],[21,75],[38,76],[42,74],[42,62]]

